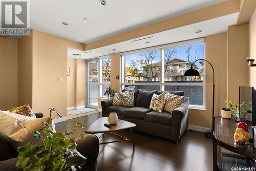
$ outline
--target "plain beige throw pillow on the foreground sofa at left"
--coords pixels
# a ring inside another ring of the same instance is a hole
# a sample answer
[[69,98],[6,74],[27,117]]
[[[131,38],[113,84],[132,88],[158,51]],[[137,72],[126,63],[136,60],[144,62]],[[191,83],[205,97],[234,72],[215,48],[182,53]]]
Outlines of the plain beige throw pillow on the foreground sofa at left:
[[[5,137],[5,139],[14,148],[18,146],[26,145],[29,141],[39,144],[40,139],[34,138],[34,130],[44,129],[44,124],[42,122],[49,122],[49,117],[38,118],[38,119],[28,119],[27,116],[20,115],[14,117],[7,111],[0,111],[0,133]],[[31,118],[31,117],[29,117]],[[52,125],[54,127],[54,123]],[[55,131],[55,129],[53,130]]]

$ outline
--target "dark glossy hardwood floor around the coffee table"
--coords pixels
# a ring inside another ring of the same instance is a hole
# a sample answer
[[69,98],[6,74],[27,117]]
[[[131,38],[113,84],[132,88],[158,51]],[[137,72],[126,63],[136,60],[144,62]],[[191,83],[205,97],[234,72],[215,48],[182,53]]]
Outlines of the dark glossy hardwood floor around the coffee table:
[[[56,131],[72,131],[77,121],[86,127],[101,113],[70,119],[56,123]],[[79,133],[84,133],[80,130]],[[129,130],[119,131],[118,134],[130,137]],[[134,132],[135,148],[132,142],[124,141],[100,145],[97,169],[101,170],[142,170],[142,171],[194,171],[212,170],[212,142],[204,133],[186,131],[177,145],[171,141],[151,135]],[[101,141],[116,140],[118,137],[105,134]]]

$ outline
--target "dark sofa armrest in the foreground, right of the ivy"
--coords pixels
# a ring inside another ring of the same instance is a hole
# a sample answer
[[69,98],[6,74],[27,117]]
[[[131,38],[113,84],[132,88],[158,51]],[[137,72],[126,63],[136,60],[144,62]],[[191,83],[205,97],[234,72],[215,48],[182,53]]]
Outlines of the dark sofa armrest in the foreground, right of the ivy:
[[97,170],[97,157],[99,154],[99,139],[95,135],[88,134],[77,142],[77,151],[86,157],[86,164],[78,170]]

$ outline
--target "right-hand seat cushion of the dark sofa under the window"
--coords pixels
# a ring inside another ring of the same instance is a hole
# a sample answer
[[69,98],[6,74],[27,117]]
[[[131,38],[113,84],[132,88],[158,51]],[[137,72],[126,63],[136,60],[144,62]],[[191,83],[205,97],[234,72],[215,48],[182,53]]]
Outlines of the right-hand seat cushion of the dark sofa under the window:
[[172,114],[165,111],[161,113],[152,111],[145,114],[144,121],[170,125],[172,124]]

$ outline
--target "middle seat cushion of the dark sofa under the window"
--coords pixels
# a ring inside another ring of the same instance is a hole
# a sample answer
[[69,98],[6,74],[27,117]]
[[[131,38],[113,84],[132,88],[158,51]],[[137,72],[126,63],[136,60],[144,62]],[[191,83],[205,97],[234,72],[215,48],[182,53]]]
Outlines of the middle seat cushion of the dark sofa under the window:
[[146,113],[150,112],[149,108],[134,107],[123,111],[124,118],[134,118],[143,120]]

